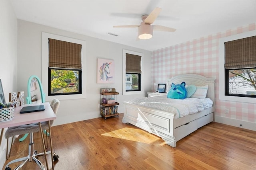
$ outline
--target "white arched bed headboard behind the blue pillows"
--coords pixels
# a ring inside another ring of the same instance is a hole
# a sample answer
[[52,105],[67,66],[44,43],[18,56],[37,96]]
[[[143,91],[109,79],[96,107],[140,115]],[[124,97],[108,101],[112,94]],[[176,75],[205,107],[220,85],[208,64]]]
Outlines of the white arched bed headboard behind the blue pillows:
[[210,98],[213,101],[213,103],[215,103],[215,79],[215,77],[207,78],[198,74],[180,74],[168,79],[166,83],[167,89],[168,86],[171,86],[172,83],[180,84],[181,82],[186,82],[186,85],[194,84],[195,86],[205,86],[208,84],[209,88],[206,97]]

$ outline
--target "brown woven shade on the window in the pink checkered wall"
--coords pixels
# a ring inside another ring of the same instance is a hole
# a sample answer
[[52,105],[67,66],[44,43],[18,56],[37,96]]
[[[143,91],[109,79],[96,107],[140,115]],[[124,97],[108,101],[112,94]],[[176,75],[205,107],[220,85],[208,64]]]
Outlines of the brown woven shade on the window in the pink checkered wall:
[[256,67],[256,36],[225,42],[225,68]]

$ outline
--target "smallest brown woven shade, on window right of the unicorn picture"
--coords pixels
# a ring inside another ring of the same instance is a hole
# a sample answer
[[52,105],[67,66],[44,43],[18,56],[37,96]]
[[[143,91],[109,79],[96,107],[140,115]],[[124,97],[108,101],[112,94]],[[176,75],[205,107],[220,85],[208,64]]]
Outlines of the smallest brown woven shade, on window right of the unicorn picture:
[[141,74],[141,56],[126,53],[126,72]]

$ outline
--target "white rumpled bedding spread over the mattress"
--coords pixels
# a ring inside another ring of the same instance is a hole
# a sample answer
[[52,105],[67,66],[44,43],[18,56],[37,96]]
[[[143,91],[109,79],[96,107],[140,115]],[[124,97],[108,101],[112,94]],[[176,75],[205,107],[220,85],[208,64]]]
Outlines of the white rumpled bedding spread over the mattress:
[[210,98],[198,99],[198,98],[185,98],[170,99],[167,96],[156,96],[152,98],[136,98],[128,101],[132,104],[137,104],[146,107],[152,107],[154,109],[166,111],[169,113],[175,113],[175,119],[197,113],[212,107],[212,100]]

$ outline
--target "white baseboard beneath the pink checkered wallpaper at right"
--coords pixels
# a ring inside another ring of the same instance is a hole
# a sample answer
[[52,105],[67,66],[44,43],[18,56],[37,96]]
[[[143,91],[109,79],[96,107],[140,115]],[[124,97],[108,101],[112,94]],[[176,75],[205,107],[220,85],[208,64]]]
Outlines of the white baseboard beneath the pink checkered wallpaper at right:
[[243,129],[256,131],[256,123],[253,123],[253,122],[231,119],[231,118],[221,117],[221,116],[215,116],[214,121],[218,123],[223,123],[226,125],[231,125],[231,126],[240,127]]

